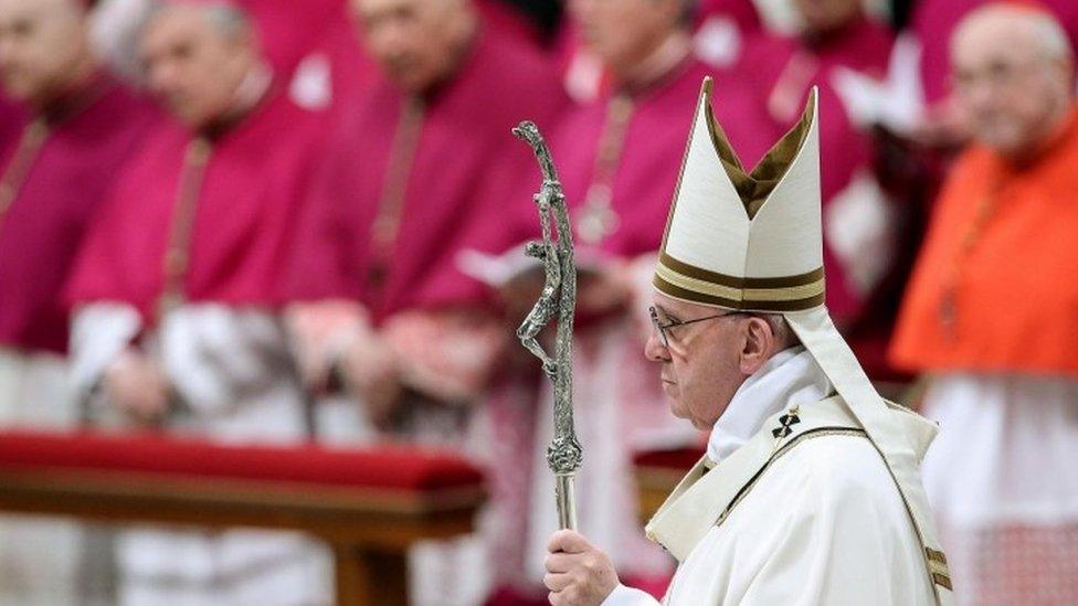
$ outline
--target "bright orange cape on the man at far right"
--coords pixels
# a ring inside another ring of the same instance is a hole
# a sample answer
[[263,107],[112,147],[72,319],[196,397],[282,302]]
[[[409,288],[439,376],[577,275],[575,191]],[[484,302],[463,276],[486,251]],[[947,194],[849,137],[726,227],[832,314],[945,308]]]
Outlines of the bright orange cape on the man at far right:
[[962,155],[890,355],[911,371],[1078,374],[1078,108],[1028,164]]

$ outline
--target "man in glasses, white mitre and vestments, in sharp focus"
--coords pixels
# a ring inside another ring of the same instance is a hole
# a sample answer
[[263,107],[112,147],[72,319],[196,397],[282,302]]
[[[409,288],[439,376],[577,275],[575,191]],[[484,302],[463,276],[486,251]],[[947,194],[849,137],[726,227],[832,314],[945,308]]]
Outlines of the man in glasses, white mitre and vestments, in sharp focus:
[[[647,524],[665,603],[950,604],[919,460],[936,427],[884,401],[824,307],[816,94],[751,171],[705,81],[656,264],[647,358],[707,455]],[[573,531],[554,605],[655,604]]]

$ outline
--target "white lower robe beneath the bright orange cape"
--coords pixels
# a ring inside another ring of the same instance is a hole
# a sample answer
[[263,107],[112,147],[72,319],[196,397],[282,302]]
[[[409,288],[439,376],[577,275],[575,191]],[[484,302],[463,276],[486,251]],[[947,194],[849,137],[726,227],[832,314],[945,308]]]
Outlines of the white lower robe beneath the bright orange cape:
[[1078,380],[950,373],[924,458],[959,604],[1078,604]]

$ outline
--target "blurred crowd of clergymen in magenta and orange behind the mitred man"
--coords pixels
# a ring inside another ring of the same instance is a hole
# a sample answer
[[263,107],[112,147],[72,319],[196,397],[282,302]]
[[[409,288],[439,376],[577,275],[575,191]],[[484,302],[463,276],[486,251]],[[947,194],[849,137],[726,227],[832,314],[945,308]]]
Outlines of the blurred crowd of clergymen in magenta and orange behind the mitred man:
[[[963,605],[1078,604],[1078,2],[0,0],[0,424],[464,453],[419,605],[546,603],[547,137],[580,272],[579,525],[660,596],[633,455],[702,445],[642,354],[705,76],[754,166],[818,87],[827,307],[941,424]],[[298,534],[0,519],[4,604],[323,605]]]

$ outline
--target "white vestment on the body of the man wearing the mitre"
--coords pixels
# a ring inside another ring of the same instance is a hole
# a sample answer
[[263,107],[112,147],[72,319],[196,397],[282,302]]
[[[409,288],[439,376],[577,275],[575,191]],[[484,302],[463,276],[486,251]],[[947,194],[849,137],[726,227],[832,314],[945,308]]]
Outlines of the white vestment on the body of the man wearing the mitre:
[[[936,604],[902,498],[831,392],[800,348],[742,384],[712,430],[708,457],[648,524],[680,560],[665,604]],[[891,414],[911,425],[923,455],[932,428],[905,411]],[[603,604],[656,602],[620,586]]]

